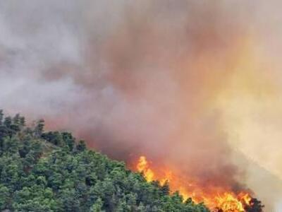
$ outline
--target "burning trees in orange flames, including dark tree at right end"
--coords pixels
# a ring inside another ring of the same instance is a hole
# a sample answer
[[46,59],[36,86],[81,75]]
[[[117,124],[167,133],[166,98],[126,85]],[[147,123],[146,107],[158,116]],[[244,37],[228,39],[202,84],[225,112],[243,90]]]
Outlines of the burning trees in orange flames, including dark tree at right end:
[[[264,206],[261,201],[253,198],[250,192],[239,192],[236,194],[230,189],[214,187],[212,193],[207,192],[205,188],[200,185],[194,185],[194,187],[185,188],[182,184],[175,184],[179,176],[173,175],[171,171],[166,170],[165,176],[160,176],[152,167],[145,156],[140,156],[136,170],[142,172],[142,175],[147,179],[147,182],[160,184],[164,187],[166,192],[171,194],[178,194],[183,196],[183,201],[200,203],[204,201],[212,212],[262,212]],[[169,188],[169,183],[173,185],[173,188]],[[195,191],[193,191],[194,189]],[[197,190],[197,192],[196,192]],[[200,191],[200,192],[199,192]]]

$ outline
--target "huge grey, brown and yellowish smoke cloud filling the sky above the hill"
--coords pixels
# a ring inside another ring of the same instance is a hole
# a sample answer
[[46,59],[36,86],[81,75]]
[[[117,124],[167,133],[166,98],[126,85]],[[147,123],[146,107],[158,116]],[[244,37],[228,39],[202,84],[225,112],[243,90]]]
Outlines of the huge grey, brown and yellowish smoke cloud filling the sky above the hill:
[[256,177],[236,151],[281,179],[279,6],[0,1],[0,106],[203,185]]

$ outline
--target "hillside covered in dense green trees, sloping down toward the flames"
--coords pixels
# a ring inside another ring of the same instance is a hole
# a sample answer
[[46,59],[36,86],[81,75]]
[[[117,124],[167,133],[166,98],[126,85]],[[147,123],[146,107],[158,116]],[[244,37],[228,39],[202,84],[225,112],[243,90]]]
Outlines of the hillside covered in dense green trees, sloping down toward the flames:
[[168,184],[148,183],[124,163],[87,150],[68,132],[44,131],[44,121],[0,111],[1,211],[209,211]]

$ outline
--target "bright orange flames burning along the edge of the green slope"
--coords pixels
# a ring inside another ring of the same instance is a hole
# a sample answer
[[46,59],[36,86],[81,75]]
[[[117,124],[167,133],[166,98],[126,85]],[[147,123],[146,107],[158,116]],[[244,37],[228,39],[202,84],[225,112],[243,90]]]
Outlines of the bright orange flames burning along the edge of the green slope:
[[173,175],[171,170],[164,169],[163,175],[160,175],[159,170],[152,170],[145,156],[140,156],[136,169],[143,173],[147,182],[158,180],[161,185],[169,182],[171,192],[178,191],[184,200],[190,197],[196,203],[204,201],[204,204],[214,212],[245,212],[245,207],[250,206],[252,202],[252,197],[247,192],[235,194],[231,191],[215,189],[216,192],[211,194],[197,187],[194,182],[181,184],[181,180]]

